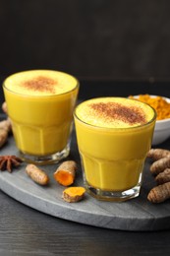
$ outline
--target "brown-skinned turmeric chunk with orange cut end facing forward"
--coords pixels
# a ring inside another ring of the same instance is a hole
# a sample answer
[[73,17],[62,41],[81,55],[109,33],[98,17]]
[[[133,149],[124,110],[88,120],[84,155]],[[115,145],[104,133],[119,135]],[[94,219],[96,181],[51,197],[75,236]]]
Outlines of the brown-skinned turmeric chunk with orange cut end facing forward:
[[54,179],[63,186],[70,186],[74,183],[77,170],[77,163],[74,160],[63,161],[54,172]]

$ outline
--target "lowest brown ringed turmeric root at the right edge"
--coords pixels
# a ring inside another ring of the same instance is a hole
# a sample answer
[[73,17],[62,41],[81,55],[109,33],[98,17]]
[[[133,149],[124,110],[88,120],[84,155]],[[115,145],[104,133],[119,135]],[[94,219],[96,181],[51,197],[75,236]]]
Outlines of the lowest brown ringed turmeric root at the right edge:
[[151,203],[162,203],[170,198],[170,182],[158,185],[150,190],[147,199]]

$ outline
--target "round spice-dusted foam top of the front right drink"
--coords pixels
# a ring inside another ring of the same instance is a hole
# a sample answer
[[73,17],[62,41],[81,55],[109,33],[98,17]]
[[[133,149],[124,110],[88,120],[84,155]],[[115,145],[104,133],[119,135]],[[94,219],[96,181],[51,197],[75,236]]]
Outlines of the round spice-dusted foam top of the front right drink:
[[141,126],[154,116],[154,110],[139,100],[124,97],[101,97],[86,100],[77,108],[79,119],[105,128]]

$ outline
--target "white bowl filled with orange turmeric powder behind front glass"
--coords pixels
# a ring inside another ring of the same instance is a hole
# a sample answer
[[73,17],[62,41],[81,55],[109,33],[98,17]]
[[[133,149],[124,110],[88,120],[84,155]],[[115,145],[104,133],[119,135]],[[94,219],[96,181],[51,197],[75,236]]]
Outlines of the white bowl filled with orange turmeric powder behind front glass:
[[129,97],[151,105],[157,113],[152,145],[161,144],[170,138],[170,98],[152,95]]

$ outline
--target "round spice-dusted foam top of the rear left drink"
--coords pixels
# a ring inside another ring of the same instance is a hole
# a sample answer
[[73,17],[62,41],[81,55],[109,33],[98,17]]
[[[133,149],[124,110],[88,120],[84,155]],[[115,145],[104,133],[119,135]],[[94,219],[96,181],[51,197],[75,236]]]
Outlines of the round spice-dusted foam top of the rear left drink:
[[31,70],[8,77],[8,90],[27,96],[60,95],[73,90],[77,80],[69,74],[52,70]]

